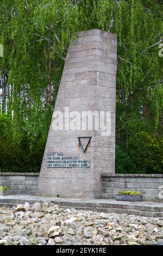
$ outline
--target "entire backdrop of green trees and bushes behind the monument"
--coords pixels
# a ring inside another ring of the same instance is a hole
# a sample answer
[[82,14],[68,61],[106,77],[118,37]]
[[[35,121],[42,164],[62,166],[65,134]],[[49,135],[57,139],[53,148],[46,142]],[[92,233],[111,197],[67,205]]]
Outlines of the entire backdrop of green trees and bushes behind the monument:
[[116,172],[162,173],[162,25],[162,1],[1,0],[0,170],[39,172],[71,34],[98,28],[118,40]]

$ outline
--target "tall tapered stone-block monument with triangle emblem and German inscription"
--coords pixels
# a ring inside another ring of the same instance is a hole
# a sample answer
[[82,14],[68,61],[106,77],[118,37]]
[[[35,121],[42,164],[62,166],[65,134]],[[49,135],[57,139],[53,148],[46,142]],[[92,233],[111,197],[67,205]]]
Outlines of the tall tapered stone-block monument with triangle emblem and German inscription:
[[116,35],[71,40],[43,156],[37,194],[102,198],[115,172]]

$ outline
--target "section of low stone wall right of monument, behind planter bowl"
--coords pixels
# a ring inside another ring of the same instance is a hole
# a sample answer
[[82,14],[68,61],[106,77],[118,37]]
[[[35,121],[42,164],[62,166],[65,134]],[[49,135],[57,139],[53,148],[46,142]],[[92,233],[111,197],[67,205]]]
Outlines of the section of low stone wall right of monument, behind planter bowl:
[[163,202],[163,174],[102,174],[103,198],[115,199],[122,190],[139,191],[145,201]]

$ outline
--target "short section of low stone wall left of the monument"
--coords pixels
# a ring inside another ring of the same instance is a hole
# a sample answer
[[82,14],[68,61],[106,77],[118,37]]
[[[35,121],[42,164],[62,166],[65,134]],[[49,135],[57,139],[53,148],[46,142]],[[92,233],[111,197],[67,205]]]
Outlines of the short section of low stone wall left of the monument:
[[39,173],[0,173],[0,186],[8,187],[3,194],[28,194],[34,196]]

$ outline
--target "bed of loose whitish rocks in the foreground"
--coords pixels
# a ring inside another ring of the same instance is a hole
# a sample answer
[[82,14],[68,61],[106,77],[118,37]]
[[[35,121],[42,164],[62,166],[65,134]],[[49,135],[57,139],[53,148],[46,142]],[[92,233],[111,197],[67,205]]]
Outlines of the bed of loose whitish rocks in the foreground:
[[63,209],[51,202],[0,208],[0,245],[156,245],[163,220]]

